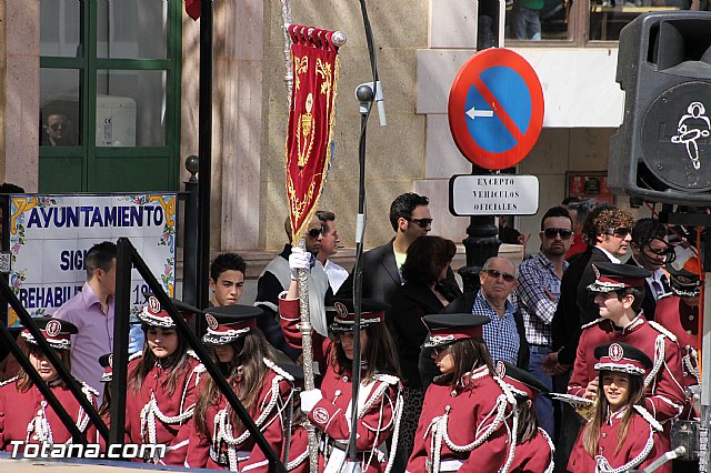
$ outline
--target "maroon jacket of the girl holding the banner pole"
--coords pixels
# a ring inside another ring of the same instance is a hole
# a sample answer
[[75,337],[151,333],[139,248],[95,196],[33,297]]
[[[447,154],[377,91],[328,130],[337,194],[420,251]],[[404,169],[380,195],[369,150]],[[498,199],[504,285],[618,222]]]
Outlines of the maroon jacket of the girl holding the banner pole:
[[[301,333],[297,329],[299,323],[299,301],[279,300],[281,329],[284,339],[293,348],[301,348]],[[328,363],[332,341],[313,333],[313,361],[319,363],[323,374],[321,383],[321,399],[309,413],[309,420],[327,436],[326,452],[321,452],[319,471],[326,464],[339,464],[344,460],[348,436],[350,434],[350,416],[352,401],[352,379],[350,370],[337,373]],[[356,447],[360,453],[363,472],[382,472],[388,465],[385,441],[393,434],[399,424],[402,405],[402,386],[397,376],[377,374],[370,383],[361,383],[358,414],[358,440]],[[397,447],[392,446],[394,451]],[[291,454],[290,454],[291,457]],[[391,455],[392,457],[392,455]],[[340,470],[339,470],[340,471]]]

